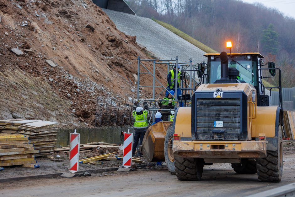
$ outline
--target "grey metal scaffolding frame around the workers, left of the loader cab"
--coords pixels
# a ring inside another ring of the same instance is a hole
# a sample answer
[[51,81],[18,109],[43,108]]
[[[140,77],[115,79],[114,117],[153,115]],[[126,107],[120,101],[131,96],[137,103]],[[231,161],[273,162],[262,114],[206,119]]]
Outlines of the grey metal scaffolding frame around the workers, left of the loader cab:
[[[150,71],[147,66],[145,66],[142,62],[152,62],[153,63],[153,70]],[[185,94],[187,92],[189,92],[190,97],[193,95],[193,93],[195,92],[195,87],[197,85],[201,84],[201,78],[198,75],[196,75],[196,72],[200,72],[201,70],[198,69],[198,66],[200,63],[196,63],[193,64],[192,63],[192,59],[190,58],[188,62],[179,62],[178,61],[178,56],[175,57],[175,59],[170,59],[170,60],[165,60],[165,59],[140,59],[140,56],[137,57],[137,100],[140,99],[140,88],[142,87],[148,87],[148,88],[152,88],[152,92],[153,92],[153,97],[152,99],[145,99],[145,101],[155,101],[155,99],[157,99],[164,91],[168,91],[167,88],[169,86],[163,85],[159,79],[157,79],[156,76],[156,66],[157,65],[167,65],[167,74],[169,73],[169,71],[171,69],[174,68],[174,66],[180,64],[180,72],[182,75],[181,78],[181,82],[180,82],[180,86],[178,87],[178,83],[175,83],[175,96],[177,95],[177,90],[180,88],[182,94],[183,92],[185,92]],[[141,70],[141,67],[143,67],[143,70]],[[153,84],[152,85],[141,85],[141,76],[143,74],[149,74],[153,77]],[[185,79],[185,80],[184,80]],[[198,80],[197,80],[198,79]],[[175,77],[175,79],[173,80],[173,82],[177,80],[177,77]],[[156,82],[159,85],[156,85]],[[186,87],[184,88],[184,82],[186,84]],[[163,88],[163,90],[156,95],[156,88]],[[159,100],[159,101],[165,101],[165,100]],[[179,100],[179,98],[175,98],[175,101],[177,102],[184,102]],[[186,101],[186,102],[190,102],[190,101]],[[155,119],[155,111],[158,111],[159,108],[156,107],[156,103],[153,102],[153,106],[151,108],[149,108],[150,111],[152,111],[152,116],[150,117],[149,121],[151,122],[151,119],[153,118],[153,122]],[[175,110],[175,109],[174,109]],[[170,110],[162,110],[161,111],[170,111]]]

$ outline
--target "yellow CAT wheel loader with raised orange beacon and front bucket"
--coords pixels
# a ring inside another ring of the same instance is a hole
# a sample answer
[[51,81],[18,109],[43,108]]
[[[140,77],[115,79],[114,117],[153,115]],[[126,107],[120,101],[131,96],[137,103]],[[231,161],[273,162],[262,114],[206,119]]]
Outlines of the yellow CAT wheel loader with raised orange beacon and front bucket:
[[[260,53],[205,56],[206,69],[198,69],[203,84],[191,97],[191,107],[178,108],[173,123],[151,126],[143,140],[143,154],[150,161],[165,159],[170,173],[179,180],[200,180],[204,165],[231,163],[237,173],[257,173],[260,181],[280,182],[281,70],[272,62],[263,65]],[[268,68],[263,67],[266,65]],[[263,85],[265,71],[268,77],[279,71],[278,87]],[[272,89],[279,90],[278,107],[270,105]]]

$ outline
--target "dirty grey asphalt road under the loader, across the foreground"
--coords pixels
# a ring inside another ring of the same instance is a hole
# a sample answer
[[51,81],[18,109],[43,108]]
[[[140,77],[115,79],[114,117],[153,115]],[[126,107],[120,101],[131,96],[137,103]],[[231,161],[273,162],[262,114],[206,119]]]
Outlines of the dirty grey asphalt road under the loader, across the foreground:
[[0,196],[247,196],[295,182],[295,154],[284,157],[281,183],[236,174],[230,164],[204,168],[201,181],[179,181],[165,167],[107,172],[91,177],[22,180],[0,184]]

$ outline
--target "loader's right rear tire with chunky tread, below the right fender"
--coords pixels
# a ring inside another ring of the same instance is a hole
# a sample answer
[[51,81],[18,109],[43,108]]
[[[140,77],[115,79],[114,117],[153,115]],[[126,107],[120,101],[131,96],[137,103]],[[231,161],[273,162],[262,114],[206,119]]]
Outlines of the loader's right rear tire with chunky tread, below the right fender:
[[257,175],[262,182],[281,182],[283,174],[283,139],[281,125],[278,128],[278,149],[267,150],[266,158],[256,159]]

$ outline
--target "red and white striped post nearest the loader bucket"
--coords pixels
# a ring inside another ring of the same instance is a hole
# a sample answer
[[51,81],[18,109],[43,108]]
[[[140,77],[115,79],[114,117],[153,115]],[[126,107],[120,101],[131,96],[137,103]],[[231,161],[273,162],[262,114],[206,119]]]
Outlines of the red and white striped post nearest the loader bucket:
[[133,134],[124,132],[124,142],[123,142],[123,166],[128,168],[131,167],[131,162],[132,162],[132,139],[133,139]]

